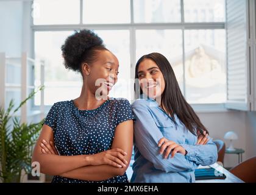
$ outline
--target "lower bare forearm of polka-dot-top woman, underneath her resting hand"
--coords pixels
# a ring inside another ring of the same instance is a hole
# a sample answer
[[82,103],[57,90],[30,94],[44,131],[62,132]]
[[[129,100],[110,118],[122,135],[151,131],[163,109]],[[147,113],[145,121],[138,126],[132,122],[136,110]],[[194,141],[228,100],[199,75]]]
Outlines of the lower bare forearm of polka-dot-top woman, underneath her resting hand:
[[110,179],[115,176],[123,176],[125,171],[125,168],[115,168],[110,165],[97,165],[77,168],[72,171],[60,174],[60,176],[68,177],[71,179],[101,181]]

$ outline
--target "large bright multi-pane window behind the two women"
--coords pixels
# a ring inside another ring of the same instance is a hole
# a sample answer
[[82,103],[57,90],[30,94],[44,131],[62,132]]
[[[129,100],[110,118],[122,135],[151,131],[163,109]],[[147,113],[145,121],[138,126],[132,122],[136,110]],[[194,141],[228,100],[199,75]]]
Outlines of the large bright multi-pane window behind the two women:
[[110,96],[132,100],[137,60],[160,52],[188,102],[226,102],[224,8],[224,0],[34,1],[32,29],[35,57],[45,62],[45,104],[80,94],[82,78],[65,69],[60,50],[79,29],[94,30],[118,57],[119,81]]

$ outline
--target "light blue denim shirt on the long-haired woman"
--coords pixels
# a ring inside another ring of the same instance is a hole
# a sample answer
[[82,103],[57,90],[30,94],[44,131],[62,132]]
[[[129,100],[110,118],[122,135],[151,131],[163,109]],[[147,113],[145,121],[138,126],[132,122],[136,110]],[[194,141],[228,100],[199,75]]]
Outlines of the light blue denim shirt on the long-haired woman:
[[[177,126],[153,99],[137,99],[132,104],[135,114],[133,174],[130,182],[194,182],[194,169],[212,165],[218,158],[212,138],[205,145],[196,145],[193,135],[177,118]],[[163,158],[158,141],[165,137],[180,144],[187,155],[176,153]]]

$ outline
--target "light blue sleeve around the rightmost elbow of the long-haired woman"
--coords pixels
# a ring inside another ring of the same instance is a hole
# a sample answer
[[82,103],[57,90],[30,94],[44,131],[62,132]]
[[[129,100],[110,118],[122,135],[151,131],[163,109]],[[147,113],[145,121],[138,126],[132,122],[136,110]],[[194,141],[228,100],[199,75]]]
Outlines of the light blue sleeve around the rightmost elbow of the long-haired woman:
[[212,165],[216,163],[218,158],[218,150],[212,138],[205,145],[188,145],[180,144],[187,151],[185,158],[194,161],[198,165]]

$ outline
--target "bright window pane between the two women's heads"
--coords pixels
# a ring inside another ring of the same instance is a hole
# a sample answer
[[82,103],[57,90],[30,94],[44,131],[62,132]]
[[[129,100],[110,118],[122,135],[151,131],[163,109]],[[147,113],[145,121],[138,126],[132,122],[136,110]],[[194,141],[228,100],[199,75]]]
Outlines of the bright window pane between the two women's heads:
[[118,82],[110,91],[109,96],[132,100],[134,82],[131,80],[133,76],[131,78],[130,75],[129,30],[95,30],[95,32],[102,38],[107,49],[112,51],[119,61]]

